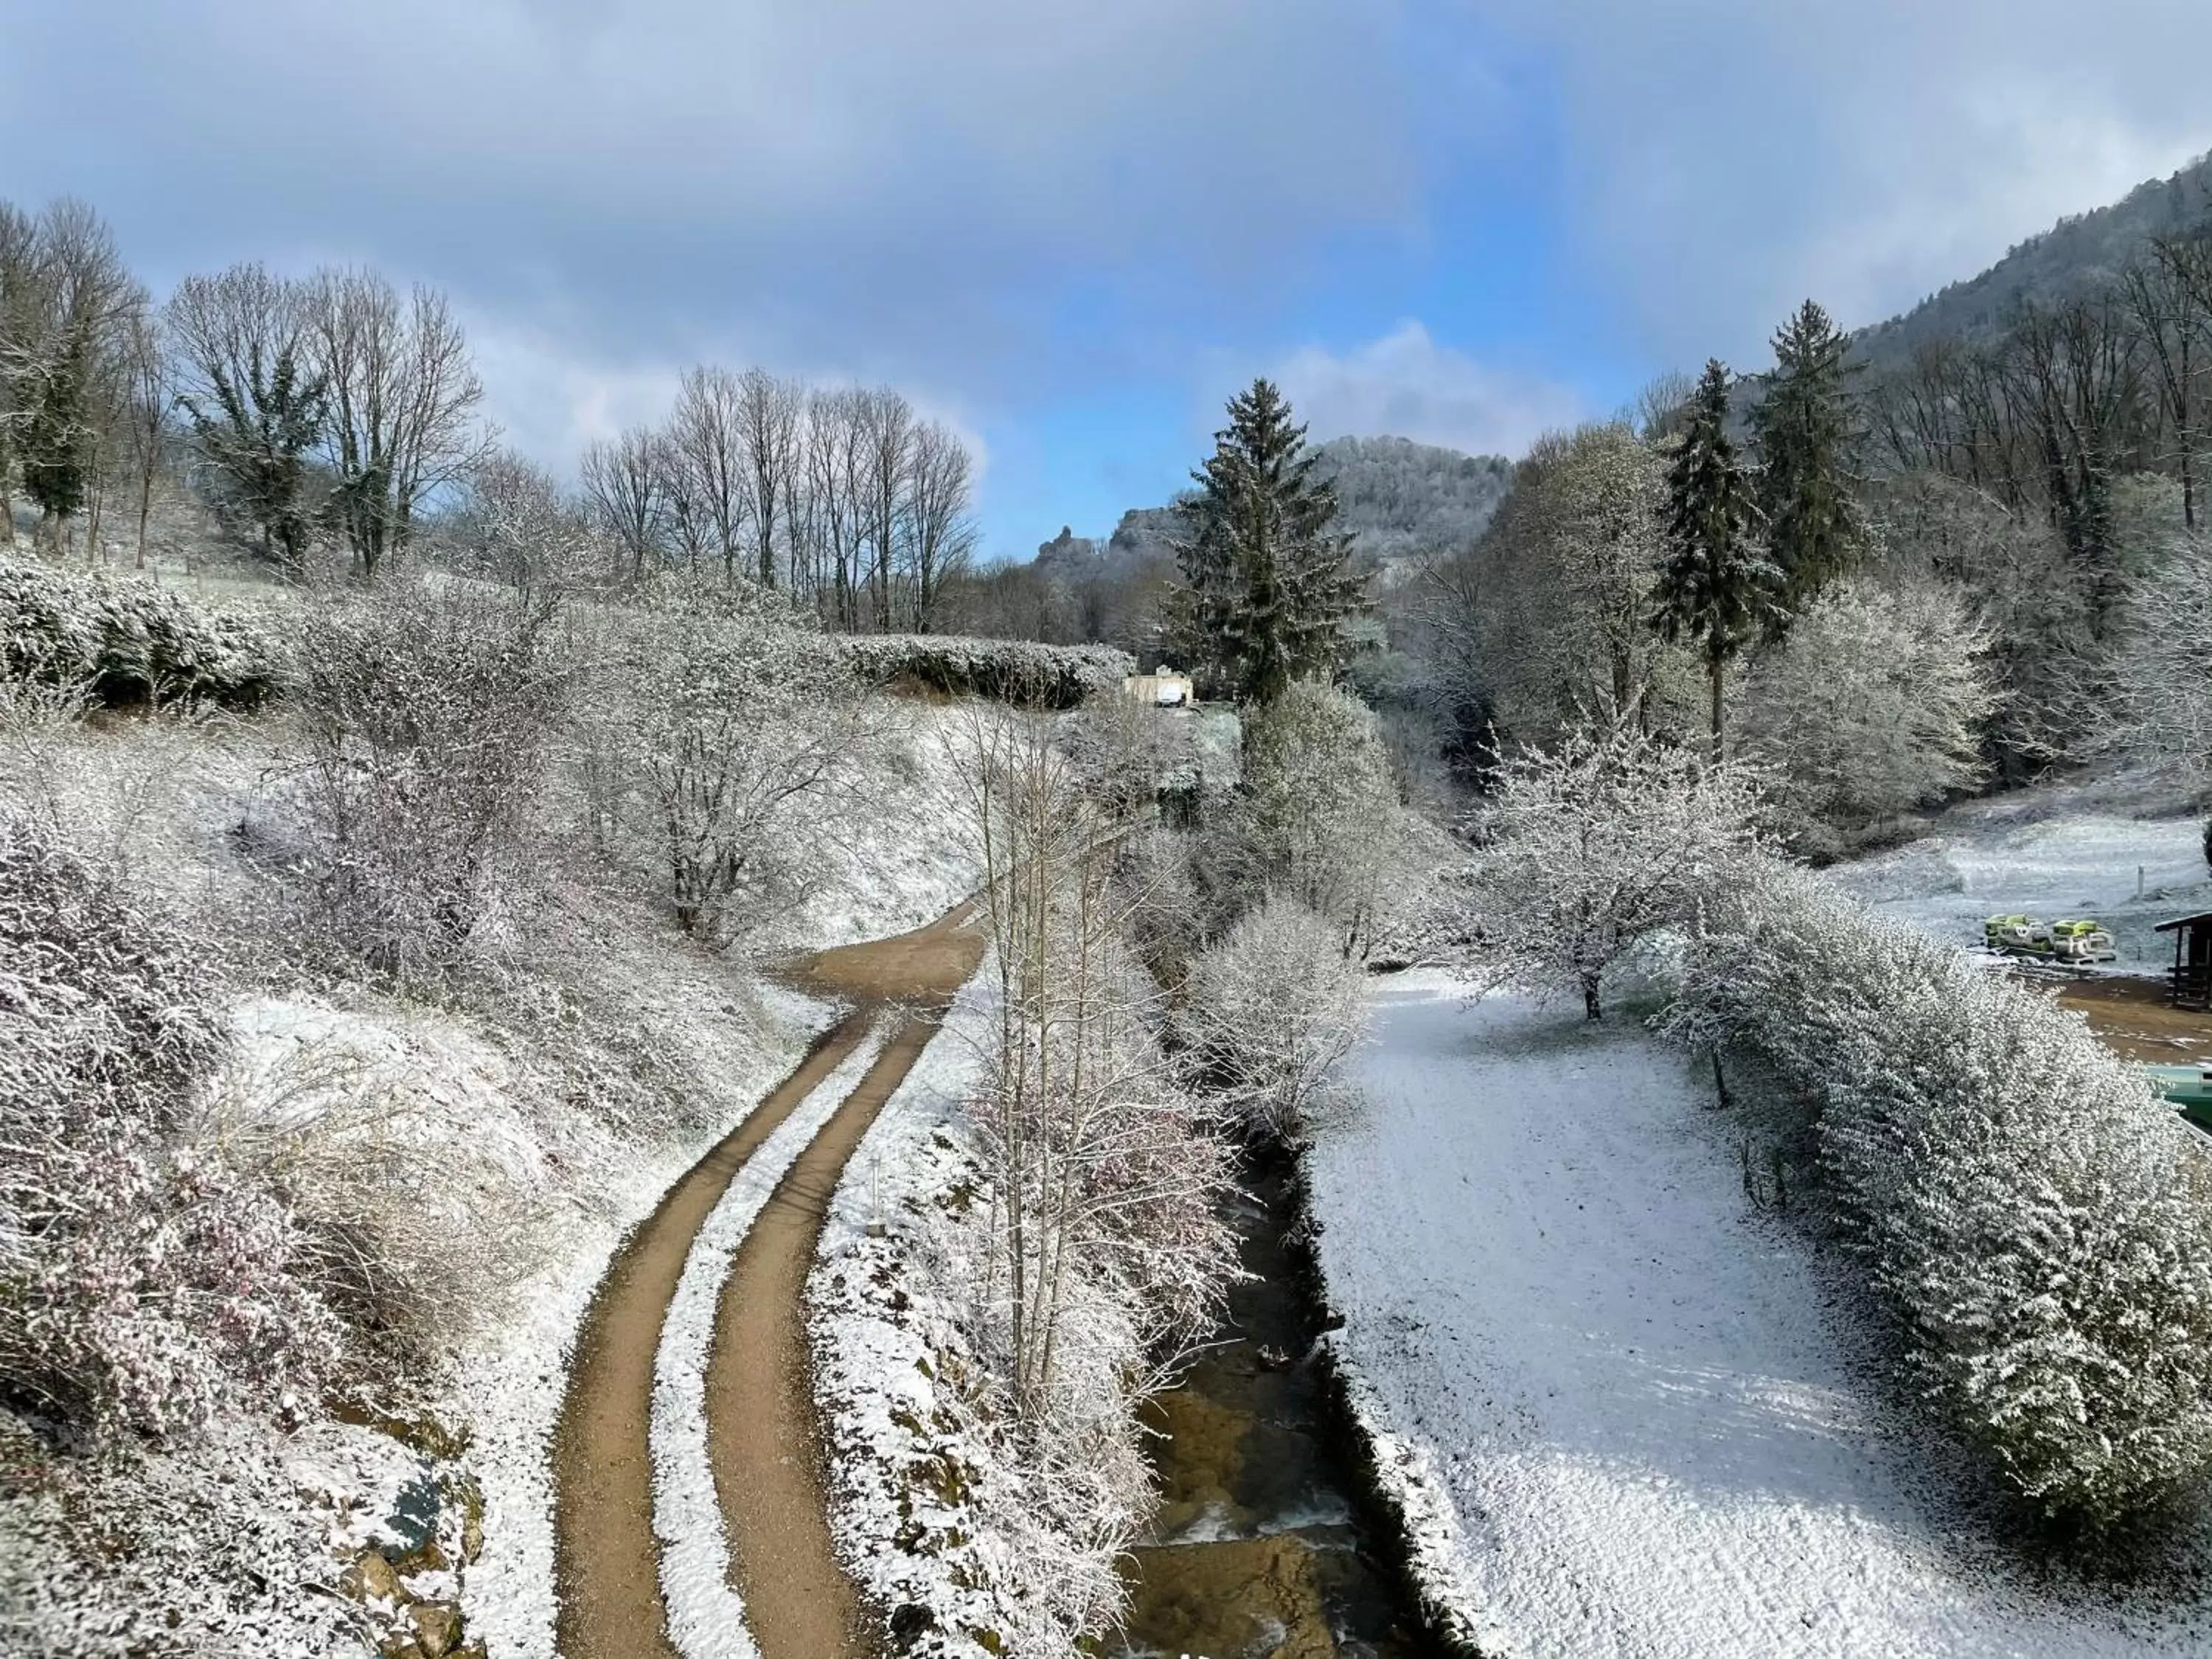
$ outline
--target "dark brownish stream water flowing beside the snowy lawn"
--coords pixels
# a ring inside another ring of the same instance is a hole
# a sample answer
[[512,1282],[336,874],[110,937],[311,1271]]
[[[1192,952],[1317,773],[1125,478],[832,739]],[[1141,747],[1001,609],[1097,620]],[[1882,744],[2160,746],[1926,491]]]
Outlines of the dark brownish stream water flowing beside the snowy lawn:
[[1380,1557],[1358,1464],[1312,1358],[1290,1159],[1256,1155],[1234,1210],[1228,1316],[1152,1409],[1164,1504],[1133,1555],[1117,1659],[1416,1659],[1433,1652]]

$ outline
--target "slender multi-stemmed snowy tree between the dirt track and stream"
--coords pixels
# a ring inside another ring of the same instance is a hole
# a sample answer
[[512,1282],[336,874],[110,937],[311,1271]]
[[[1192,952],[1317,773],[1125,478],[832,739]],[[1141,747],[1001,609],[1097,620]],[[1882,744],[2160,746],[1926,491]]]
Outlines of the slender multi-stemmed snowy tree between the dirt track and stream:
[[1232,1250],[1214,1210],[1228,1161],[1161,1053],[1164,995],[1126,940],[1128,816],[1015,710],[975,710],[956,763],[998,975],[989,1082],[971,1108],[1000,1206],[984,1296],[1002,1310],[1015,1409],[1042,1422],[1064,1409],[1084,1281],[1137,1290],[1133,1363],[1172,1365],[1206,1329]]

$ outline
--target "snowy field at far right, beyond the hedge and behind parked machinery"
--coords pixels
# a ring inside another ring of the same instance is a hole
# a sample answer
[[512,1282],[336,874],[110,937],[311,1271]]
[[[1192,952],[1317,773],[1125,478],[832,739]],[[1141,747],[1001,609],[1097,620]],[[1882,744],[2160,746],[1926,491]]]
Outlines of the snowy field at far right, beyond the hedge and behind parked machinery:
[[2157,922],[2212,905],[2203,816],[2126,779],[1969,801],[1924,838],[1827,874],[1953,945],[1978,945],[1984,916],[2095,916],[2112,929],[2119,967],[2137,971],[2170,956]]

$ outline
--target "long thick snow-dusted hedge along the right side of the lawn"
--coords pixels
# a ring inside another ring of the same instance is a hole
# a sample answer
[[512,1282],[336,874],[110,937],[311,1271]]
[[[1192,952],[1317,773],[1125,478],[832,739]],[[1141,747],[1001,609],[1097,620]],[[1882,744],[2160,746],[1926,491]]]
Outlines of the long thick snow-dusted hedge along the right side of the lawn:
[[1666,1029],[1814,1104],[1931,1400],[2046,1511],[2212,1471],[2212,1168],[2077,1013],[1798,869],[1714,891]]

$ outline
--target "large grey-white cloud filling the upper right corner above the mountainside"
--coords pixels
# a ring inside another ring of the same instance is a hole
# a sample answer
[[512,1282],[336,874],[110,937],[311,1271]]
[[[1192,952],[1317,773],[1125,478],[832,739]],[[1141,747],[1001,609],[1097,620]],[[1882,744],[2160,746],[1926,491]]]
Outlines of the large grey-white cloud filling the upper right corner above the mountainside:
[[2179,0],[1478,0],[1537,49],[1575,257],[1646,349],[1745,365],[1971,276],[2212,146]]

